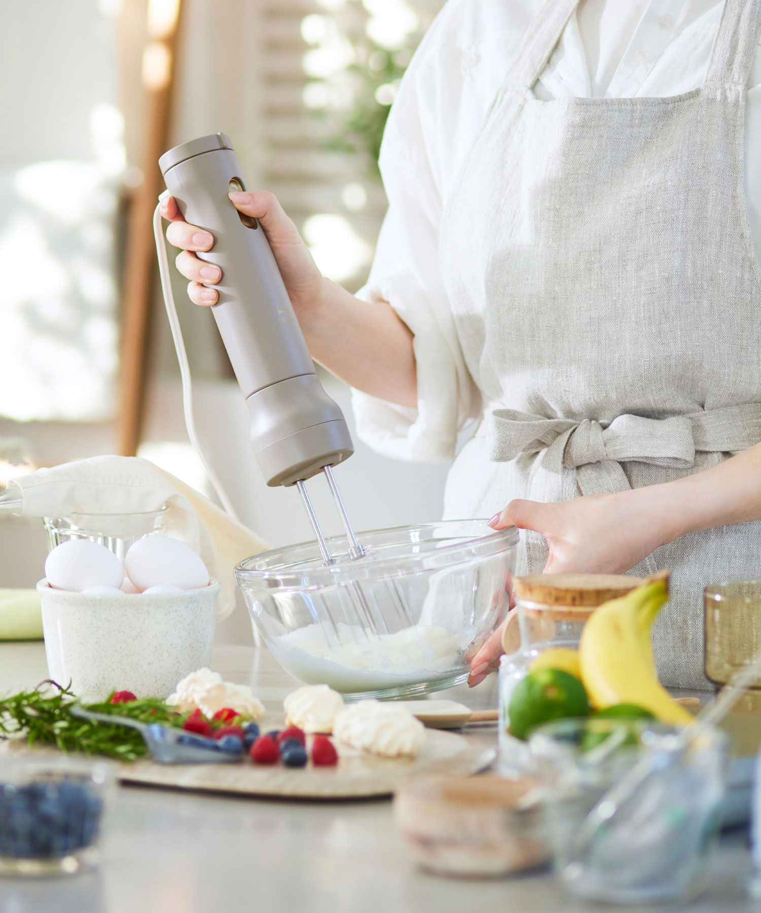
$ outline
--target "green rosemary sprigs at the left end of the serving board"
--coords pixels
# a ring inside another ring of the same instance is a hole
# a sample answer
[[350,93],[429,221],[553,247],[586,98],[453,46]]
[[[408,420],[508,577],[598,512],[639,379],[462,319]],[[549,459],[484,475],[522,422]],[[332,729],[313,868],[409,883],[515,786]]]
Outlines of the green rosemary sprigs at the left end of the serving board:
[[[58,690],[52,693],[46,685]],[[117,723],[101,723],[75,717],[71,708],[79,701],[69,688],[57,682],[40,682],[31,691],[0,698],[0,739],[26,735],[29,745],[55,745],[62,751],[102,754],[117,761],[134,761],[148,753],[136,729]],[[98,713],[112,713],[146,723],[182,726],[185,716],[167,707],[158,698],[141,698],[128,704],[82,704]]]

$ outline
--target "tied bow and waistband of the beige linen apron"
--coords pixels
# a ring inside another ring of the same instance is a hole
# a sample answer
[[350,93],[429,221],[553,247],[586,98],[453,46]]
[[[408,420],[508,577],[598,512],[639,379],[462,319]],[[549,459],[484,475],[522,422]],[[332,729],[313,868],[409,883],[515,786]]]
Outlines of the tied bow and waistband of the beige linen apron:
[[607,494],[630,488],[621,462],[689,469],[696,451],[732,453],[757,444],[761,441],[761,403],[661,419],[619,415],[610,423],[543,418],[495,408],[489,437],[494,461],[544,450],[545,469],[575,469],[582,494]]

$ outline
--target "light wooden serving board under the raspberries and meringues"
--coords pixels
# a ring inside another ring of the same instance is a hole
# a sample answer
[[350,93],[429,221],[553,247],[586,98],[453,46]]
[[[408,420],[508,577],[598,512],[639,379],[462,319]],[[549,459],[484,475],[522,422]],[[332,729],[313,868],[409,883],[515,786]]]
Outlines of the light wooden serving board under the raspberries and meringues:
[[[29,749],[25,742],[5,743],[14,754],[52,749]],[[156,764],[153,761],[120,763],[122,783],[141,783],[180,790],[233,792],[249,796],[282,796],[291,799],[360,799],[385,796],[419,776],[470,774],[491,764],[495,752],[478,740],[453,732],[426,729],[426,740],[414,759],[379,758],[336,746],[336,767],[288,768],[252,764],[248,759],[232,764]]]

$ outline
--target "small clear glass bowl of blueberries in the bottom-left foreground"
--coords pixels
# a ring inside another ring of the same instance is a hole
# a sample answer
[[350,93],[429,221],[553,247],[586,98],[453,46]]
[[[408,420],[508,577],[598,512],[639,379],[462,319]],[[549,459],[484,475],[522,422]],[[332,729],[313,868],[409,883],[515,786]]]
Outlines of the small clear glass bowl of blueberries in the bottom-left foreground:
[[107,761],[0,756],[0,875],[73,875],[98,860]]

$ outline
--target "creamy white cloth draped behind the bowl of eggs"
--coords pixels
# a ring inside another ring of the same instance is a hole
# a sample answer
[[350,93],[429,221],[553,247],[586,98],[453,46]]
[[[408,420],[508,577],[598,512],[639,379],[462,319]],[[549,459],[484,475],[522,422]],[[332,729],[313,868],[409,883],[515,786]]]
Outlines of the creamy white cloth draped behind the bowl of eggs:
[[217,618],[235,608],[238,561],[270,546],[190,488],[139,456],[93,456],[50,469],[37,469],[8,482],[18,489],[19,511],[27,517],[149,513],[166,507],[164,529],[203,558],[221,584]]

